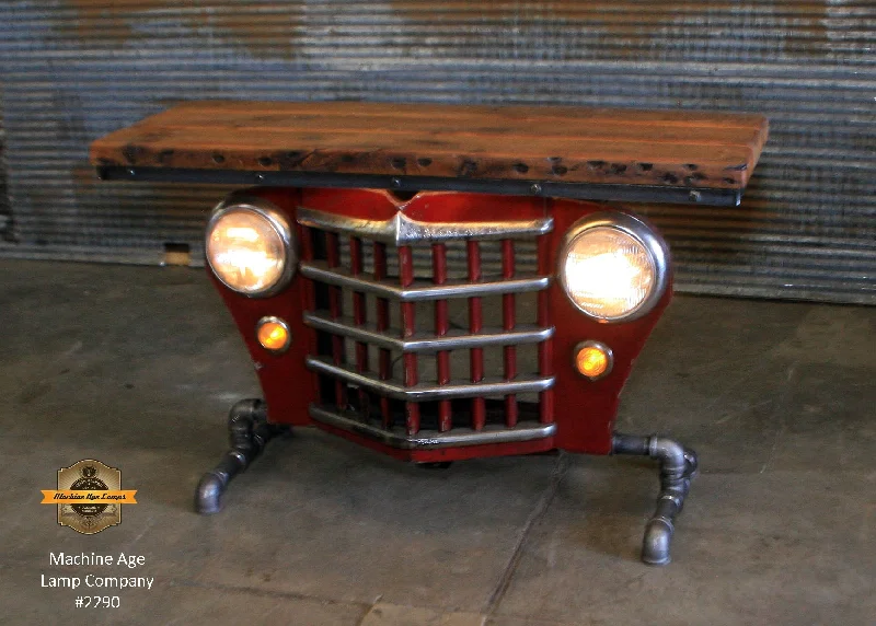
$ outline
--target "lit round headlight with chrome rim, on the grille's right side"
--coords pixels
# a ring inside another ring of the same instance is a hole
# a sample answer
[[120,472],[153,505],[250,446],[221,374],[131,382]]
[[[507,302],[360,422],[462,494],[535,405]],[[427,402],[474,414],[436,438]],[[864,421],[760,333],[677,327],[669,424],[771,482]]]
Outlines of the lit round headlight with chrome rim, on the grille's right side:
[[667,286],[662,240],[625,213],[596,213],[577,222],[560,254],[560,280],[580,311],[600,322],[645,315]]

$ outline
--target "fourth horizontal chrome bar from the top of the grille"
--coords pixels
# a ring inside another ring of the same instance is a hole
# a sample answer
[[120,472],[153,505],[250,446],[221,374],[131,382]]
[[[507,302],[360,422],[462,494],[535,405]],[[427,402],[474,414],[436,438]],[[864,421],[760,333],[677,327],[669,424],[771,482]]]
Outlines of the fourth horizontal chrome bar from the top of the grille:
[[512,381],[486,379],[480,383],[453,383],[447,385],[417,384],[406,387],[391,381],[382,381],[370,373],[360,373],[344,366],[335,366],[328,362],[327,359],[321,357],[308,357],[304,362],[308,369],[313,372],[334,376],[348,384],[365,387],[381,395],[403,399],[405,402],[427,402],[454,397],[481,397],[488,395],[542,392],[554,386],[554,376],[519,376]]

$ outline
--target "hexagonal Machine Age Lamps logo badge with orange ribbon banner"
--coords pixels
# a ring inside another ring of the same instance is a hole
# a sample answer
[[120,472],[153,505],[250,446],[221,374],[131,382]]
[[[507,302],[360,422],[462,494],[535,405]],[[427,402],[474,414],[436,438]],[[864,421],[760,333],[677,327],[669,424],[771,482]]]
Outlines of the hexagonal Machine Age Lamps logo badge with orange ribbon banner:
[[136,489],[122,489],[122,472],[94,459],[58,470],[58,489],[43,490],[43,505],[57,505],[58,523],[93,535],[122,523],[122,505],[136,505]]

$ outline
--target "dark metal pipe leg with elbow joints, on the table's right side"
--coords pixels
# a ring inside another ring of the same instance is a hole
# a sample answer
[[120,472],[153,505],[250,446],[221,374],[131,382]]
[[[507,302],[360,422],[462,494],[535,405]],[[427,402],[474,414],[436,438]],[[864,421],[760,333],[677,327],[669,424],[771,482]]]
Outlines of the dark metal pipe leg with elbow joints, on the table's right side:
[[696,474],[696,453],[672,439],[615,432],[612,454],[637,454],[660,462],[660,496],[654,515],[645,525],[642,560],[648,565],[666,565],[671,560],[669,547],[676,515],[684,507],[691,479]]

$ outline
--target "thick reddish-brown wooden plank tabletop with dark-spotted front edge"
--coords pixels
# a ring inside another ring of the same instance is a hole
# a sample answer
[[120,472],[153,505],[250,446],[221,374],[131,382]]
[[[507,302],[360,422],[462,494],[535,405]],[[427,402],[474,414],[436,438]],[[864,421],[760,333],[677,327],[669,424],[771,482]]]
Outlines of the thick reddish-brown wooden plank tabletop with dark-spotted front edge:
[[560,106],[187,102],[91,146],[97,166],[741,189],[760,115]]

